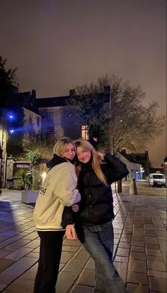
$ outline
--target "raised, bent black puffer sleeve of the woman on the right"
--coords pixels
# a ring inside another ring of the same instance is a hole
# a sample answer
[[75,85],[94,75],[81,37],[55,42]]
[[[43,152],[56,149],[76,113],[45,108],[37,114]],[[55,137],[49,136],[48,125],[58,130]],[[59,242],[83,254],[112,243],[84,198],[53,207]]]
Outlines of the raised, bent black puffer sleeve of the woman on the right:
[[108,182],[111,184],[118,181],[129,174],[127,166],[114,155],[107,153],[104,157],[108,164]]

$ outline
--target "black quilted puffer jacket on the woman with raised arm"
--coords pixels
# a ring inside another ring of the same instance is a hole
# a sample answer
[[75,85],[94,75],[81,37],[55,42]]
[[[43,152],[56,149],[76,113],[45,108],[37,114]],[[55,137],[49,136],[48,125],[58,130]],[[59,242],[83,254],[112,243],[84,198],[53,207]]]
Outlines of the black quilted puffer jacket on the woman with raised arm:
[[127,176],[129,171],[123,162],[110,154],[105,155],[105,162],[100,167],[107,179],[108,186],[98,179],[91,167],[91,162],[81,165],[78,182],[81,194],[79,213],[73,213],[72,218],[71,208],[65,208],[62,218],[63,226],[74,223],[77,221],[77,217],[83,224],[94,225],[107,223],[114,219],[113,194],[110,184]]

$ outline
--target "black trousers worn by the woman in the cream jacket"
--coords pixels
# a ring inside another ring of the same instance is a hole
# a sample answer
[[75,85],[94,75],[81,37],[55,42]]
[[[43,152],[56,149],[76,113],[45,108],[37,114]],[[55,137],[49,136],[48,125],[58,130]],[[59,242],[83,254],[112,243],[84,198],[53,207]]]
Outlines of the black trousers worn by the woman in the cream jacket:
[[55,293],[64,231],[38,231],[40,258],[34,293]]

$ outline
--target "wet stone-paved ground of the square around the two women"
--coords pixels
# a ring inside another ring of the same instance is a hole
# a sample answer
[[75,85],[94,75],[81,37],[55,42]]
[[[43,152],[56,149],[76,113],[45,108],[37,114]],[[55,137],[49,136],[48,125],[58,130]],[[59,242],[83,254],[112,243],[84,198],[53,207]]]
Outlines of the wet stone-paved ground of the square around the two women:
[[[165,293],[166,189],[140,182],[139,195],[129,196],[127,185],[114,194],[115,267],[129,293]],[[0,211],[0,292],[33,293],[40,244],[33,206],[21,204],[21,192],[3,190]],[[79,241],[64,238],[57,293],[93,293],[93,284],[93,260]]]

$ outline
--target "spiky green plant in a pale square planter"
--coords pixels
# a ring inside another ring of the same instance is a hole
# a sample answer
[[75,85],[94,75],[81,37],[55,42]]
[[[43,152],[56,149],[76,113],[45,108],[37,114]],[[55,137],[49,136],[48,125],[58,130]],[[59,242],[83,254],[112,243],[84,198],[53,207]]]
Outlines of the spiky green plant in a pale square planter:
[[24,204],[35,203],[38,197],[38,190],[32,190],[33,176],[31,172],[21,169],[16,172],[16,187],[21,189],[21,202]]

